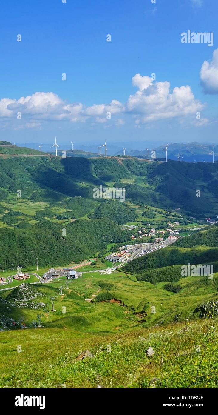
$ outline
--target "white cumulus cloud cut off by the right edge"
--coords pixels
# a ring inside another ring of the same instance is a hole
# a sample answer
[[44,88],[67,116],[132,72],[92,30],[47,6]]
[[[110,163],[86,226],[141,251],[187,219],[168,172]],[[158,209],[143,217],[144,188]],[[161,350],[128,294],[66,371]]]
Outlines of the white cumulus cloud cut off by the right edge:
[[218,49],[213,51],[213,59],[211,62],[203,62],[200,76],[204,93],[218,94]]

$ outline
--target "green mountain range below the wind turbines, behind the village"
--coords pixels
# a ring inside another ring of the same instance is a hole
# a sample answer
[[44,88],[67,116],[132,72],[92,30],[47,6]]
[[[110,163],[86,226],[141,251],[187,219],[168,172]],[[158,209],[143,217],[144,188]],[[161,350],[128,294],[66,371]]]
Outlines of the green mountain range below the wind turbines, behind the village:
[[[184,216],[180,215],[179,221],[184,223],[186,215],[193,212],[201,218],[213,215],[217,212],[217,181],[216,164],[166,164],[117,157],[62,159],[43,153],[40,157],[2,157],[0,265],[4,269],[15,264],[32,265],[36,251],[43,265],[63,264],[68,259],[82,261],[102,252],[110,241],[128,242],[131,234],[121,232],[118,224],[139,219],[131,203],[147,206],[147,212],[149,206],[166,210],[181,207]],[[125,203],[94,199],[93,189],[99,186],[125,188]],[[196,189],[201,189],[200,198],[196,197]],[[146,212],[144,215],[146,220]],[[148,218],[153,216],[161,228],[169,213],[165,212],[159,222],[158,215],[151,212]],[[66,229],[66,237],[62,237],[62,229]],[[216,235],[214,246],[215,241]],[[178,246],[183,243],[188,242],[177,242]],[[170,258],[162,260],[167,265]]]

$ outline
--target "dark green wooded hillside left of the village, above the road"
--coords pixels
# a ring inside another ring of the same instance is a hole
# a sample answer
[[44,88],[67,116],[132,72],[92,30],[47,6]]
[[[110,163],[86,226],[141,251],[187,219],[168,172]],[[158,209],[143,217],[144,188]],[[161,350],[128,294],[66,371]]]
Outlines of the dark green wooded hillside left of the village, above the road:
[[4,269],[35,263],[36,252],[40,265],[64,265],[80,262],[112,242],[125,242],[118,225],[109,219],[77,220],[67,225],[40,222],[28,227],[2,228],[0,232],[0,266]]

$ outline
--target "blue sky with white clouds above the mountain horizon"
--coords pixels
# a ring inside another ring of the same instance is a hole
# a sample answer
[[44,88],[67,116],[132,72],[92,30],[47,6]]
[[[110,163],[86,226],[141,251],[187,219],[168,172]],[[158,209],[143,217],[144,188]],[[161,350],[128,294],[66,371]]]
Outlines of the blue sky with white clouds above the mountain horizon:
[[[217,143],[217,12],[217,0],[2,2],[1,139]],[[213,46],[182,44],[188,30]]]

